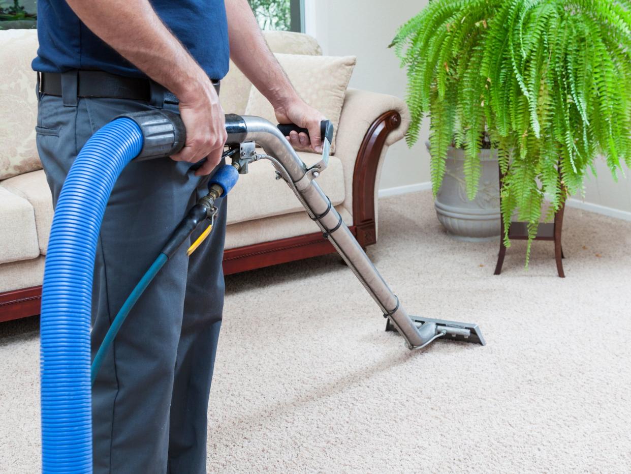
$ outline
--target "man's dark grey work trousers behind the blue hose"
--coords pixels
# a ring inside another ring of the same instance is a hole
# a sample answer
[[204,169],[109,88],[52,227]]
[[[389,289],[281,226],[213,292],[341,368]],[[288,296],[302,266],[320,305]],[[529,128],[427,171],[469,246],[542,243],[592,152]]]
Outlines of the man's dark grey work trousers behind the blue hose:
[[[68,103],[68,100],[66,100]],[[177,106],[164,104],[174,111]],[[53,200],[90,136],[147,102],[42,95],[37,147]],[[168,158],[131,162],[109,199],[93,286],[92,356],[127,295],[158,256],[208,179]],[[227,203],[190,258],[184,243],[140,298],[92,392],[95,473],[206,473],[206,413],[221,312]],[[200,226],[192,236],[204,230]],[[188,243],[189,244],[189,243]]]

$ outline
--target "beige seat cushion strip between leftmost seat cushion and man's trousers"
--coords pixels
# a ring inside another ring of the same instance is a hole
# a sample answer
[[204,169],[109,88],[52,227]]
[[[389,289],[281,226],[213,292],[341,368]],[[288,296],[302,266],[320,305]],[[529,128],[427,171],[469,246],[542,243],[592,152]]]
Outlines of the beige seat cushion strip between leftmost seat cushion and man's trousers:
[[25,198],[33,206],[40,253],[46,255],[50,226],[52,225],[52,195],[50,195],[44,170],[40,169],[31,173],[20,174],[15,178],[5,179],[0,186]]

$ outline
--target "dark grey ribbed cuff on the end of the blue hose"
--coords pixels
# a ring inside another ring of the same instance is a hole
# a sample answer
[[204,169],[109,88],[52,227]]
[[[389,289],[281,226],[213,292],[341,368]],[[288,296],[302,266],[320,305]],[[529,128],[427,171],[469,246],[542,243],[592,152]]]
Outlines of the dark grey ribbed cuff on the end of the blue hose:
[[143,149],[135,161],[171,156],[186,143],[186,128],[179,114],[168,110],[148,110],[119,115],[138,124],[143,133]]

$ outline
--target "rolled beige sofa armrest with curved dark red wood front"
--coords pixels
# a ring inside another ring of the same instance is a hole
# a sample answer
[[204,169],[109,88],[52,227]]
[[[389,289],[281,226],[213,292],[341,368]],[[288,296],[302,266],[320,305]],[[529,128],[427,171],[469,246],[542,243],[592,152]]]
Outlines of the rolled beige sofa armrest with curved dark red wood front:
[[410,113],[392,95],[349,88],[336,138],[336,155],[344,168],[346,197],[361,245],[377,241],[377,186],[386,151],[404,137]]

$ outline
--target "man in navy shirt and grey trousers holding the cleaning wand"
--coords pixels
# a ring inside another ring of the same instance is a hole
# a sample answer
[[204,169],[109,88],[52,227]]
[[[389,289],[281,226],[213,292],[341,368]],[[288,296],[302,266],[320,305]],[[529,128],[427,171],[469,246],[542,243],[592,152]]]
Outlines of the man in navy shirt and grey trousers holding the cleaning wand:
[[[227,135],[218,80],[228,57],[268,97],[278,121],[310,130],[312,143],[292,132],[293,145],[321,151],[322,116],[293,90],[247,0],[39,0],[38,37],[37,145],[55,202],[81,147],[115,116],[166,108],[186,125],[181,152],[132,162],[114,187],[96,258],[94,354],[220,163]],[[186,245],[171,258],[103,362],[93,387],[95,473],[206,472],[225,198],[216,205],[211,236],[191,258]]]

